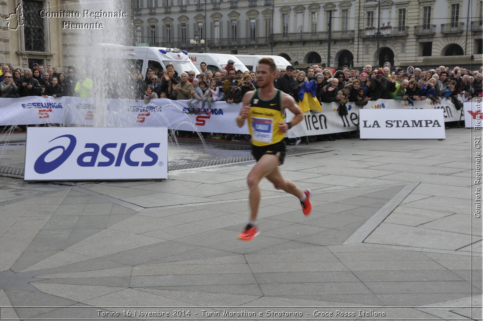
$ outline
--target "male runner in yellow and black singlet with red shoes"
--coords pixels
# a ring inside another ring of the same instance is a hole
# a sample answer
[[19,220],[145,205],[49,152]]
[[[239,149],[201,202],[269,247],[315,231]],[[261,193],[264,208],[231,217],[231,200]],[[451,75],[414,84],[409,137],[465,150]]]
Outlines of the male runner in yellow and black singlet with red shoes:
[[[277,190],[284,190],[297,196],[304,215],[309,215],[312,210],[310,190],[298,189],[292,181],[282,177],[278,168],[284,163],[285,132],[303,119],[302,111],[290,95],[273,86],[276,66],[272,58],[262,58],[258,61],[256,77],[259,89],[245,93],[244,107],[237,116],[239,127],[243,127],[245,119],[248,118],[248,129],[252,135],[252,154],[256,159],[256,164],[247,177],[251,215],[245,230],[238,235],[243,241],[251,241],[260,233],[255,220],[260,203],[258,184],[263,177],[267,177]],[[285,108],[295,114],[287,123],[284,122]]]

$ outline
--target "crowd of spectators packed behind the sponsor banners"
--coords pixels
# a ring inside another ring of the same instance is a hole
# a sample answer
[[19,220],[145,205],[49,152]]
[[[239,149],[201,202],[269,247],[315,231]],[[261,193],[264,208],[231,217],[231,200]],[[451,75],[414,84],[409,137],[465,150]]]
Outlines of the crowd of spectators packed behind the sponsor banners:
[[[216,102],[239,103],[247,91],[258,88],[254,71],[243,73],[231,66],[232,64],[228,64],[226,68],[213,73],[207,70],[206,63],[201,62],[199,74],[193,70],[178,74],[171,64],[163,70],[148,68],[145,76],[139,70],[134,73],[126,72],[118,81],[107,82],[105,97],[143,100],[145,103],[156,98],[187,100],[188,113],[211,115]],[[350,102],[364,107],[369,101],[378,99],[408,103],[426,99],[433,102],[449,99],[457,109],[461,109],[463,102],[472,97],[482,97],[482,72],[483,66],[478,70],[457,66],[452,69],[439,66],[428,70],[413,66],[403,69],[397,66],[391,72],[389,62],[379,69],[366,65],[362,71],[349,66],[343,66],[336,71],[313,64],[305,70],[298,70],[293,66],[277,69],[274,85],[297,102],[300,100],[302,88],[316,88],[315,99],[322,106],[327,102],[337,102],[341,109]],[[95,85],[84,71],[76,72],[73,67],[67,69],[67,76],[58,73],[57,68],[45,70],[39,64],[23,71],[2,65],[1,73],[2,98],[91,97]],[[240,135],[232,138],[230,134],[221,133],[215,133],[214,138],[243,139]],[[338,138],[342,138],[341,135],[321,137],[323,140]]]

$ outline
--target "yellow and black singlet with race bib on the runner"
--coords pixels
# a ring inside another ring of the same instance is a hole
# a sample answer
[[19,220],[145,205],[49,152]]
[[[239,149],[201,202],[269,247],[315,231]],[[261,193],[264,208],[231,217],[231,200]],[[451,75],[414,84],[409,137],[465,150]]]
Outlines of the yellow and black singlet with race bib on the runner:
[[261,99],[260,89],[256,89],[250,100],[248,130],[252,135],[252,144],[266,146],[280,142],[285,133],[278,129],[278,123],[284,122],[282,114],[282,91],[276,89],[269,100]]

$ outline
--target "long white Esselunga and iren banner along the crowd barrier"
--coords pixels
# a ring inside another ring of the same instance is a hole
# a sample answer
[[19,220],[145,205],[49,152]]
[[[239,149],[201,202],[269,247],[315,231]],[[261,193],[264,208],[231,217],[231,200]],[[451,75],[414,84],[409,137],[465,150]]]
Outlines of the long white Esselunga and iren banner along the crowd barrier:
[[[201,103],[199,103],[200,105]],[[239,128],[235,117],[241,103],[214,102],[211,115],[188,114],[186,101],[142,100],[38,96],[0,98],[1,125],[62,124],[96,127],[167,127],[173,130],[246,134],[245,124]],[[348,115],[339,116],[339,104],[322,103],[322,112],[304,114],[304,119],[288,131],[289,137],[354,131],[359,123],[359,107],[347,105]],[[444,121],[458,121],[461,113],[447,99],[440,103],[380,99],[369,102],[364,109],[441,109]],[[287,111],[287,121],[293,115]],[[463,118],[461,118],[463,119]]]

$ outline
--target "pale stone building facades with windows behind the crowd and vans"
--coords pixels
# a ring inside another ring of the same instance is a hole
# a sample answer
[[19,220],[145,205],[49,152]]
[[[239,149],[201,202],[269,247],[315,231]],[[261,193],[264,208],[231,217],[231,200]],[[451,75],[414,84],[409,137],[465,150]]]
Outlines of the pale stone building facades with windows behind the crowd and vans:
[[[482,0],[209,1],[131,0],[126,20],[131,44],[281,55],[299,64],[327,64],[330,57],[333,67],[384,61],[393,66],[434,65],[452,61],[454,55],[466,56],[458,59],[469,65],[481,64],[483,58]],[[26,27],[9,29],[6,19],[18,4]],[[23,69],[37,62],[60,70],[75,64],[85,46],[79,32],[62,29],[59,18],[42,18],[38,11],[80,6],[74,0],[0,0],[0,63]],[[204,45],[191,46],[195,33]],[[112,43],[117,41],[112,37]]]

